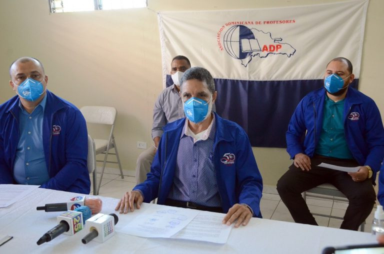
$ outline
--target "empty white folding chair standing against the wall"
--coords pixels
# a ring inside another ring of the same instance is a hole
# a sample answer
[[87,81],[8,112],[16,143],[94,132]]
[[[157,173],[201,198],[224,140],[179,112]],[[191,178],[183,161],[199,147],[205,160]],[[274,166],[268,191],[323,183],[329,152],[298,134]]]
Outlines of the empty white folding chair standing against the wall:
[[[97,184],[96,191],[93,193],[94,195],[98,195],[98,191],[101,186],[101,180],[102,176],[104,174],[105,164],[106,163],[117,163],[118,167],[120,169],[121,178],[124,178],[122,174],[122,168],[120,163],[120,158],[118,156],[116,143],[114,141],[113,136],[113,129],[114,129],[114,122],[116,119],[116,109],[114,107],[110,106],[83,106],[80,108],[80,111],[82,115],[85,118],[85,121],[87,123],[97,123],[97,124],[108,124],[111,125],[110,133],[108,139],[93,139],[95,143],[95,154],[104,154],[103,160],[96,160],[96,161],[102,161],[102,167],[101,167],[101,175],[100,180]],[[114,153],[109,152],[110,149],[114,148]],[[113,154],[116,156],[116,161],[108,161],[107,157],[108,154]],[[96,168],[95,168],[95,171]]]

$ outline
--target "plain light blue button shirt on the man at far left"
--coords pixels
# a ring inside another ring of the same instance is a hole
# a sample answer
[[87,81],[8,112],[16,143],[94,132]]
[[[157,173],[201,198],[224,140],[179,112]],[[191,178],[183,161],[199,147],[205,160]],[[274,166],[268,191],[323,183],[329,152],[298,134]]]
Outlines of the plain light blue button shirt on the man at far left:
[[21,102],[19,121],[19,140],[13,164],[13,178],[19,184],[41,185],[49,180],[42,145],[42,119],[46,95],[29,114]]

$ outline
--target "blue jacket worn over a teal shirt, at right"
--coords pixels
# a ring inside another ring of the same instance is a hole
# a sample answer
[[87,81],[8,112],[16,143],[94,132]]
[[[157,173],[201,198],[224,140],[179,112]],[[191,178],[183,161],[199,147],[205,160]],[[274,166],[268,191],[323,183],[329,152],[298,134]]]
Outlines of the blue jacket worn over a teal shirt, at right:
[[[298,103],[286,131],[286,150],[290,158],[299,152],[313,156],[322,128],[325,94],[325,88],[320,88],[308,93]],[[374,181],[384,157],[384,129],[376,104],[368,96],[348,87],[343,121],[350,152],[360,165],[372,168]]]

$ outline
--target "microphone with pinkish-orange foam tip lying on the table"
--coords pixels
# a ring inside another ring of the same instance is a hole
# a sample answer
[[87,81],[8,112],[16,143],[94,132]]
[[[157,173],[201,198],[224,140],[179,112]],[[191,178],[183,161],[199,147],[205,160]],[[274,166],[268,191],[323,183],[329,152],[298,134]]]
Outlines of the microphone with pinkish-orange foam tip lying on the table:
[[36,210],[45,210],[45,211],[66,211],[74,210],[75,208],[86,205],[90,208],[92,214],[98,213],[101,211],[102,201],[97,197],[85,198],[85,196],[75,196],[72,197],[69,202],[66,203],[47,203],[44,206],[37,206]]

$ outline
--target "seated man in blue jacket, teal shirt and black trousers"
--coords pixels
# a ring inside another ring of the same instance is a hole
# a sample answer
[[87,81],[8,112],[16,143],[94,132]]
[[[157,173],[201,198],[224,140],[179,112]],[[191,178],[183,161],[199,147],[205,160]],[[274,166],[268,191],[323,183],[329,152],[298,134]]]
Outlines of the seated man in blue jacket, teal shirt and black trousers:
[[[326,182],[349,200],[340,228],[357,230],[372,210],[384,130],[374,101],[349,87],[353,78],[348,59],[332,59],[324,88],[308,93],[290,119],[286,143],[293,164],[278,180],[277,191],[295,222],[317,225],[301,192]],[[358,170],[347,173],[318,166],[321,162]]]

